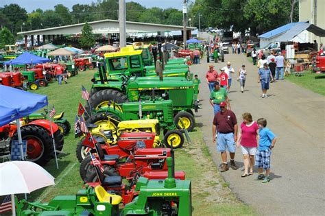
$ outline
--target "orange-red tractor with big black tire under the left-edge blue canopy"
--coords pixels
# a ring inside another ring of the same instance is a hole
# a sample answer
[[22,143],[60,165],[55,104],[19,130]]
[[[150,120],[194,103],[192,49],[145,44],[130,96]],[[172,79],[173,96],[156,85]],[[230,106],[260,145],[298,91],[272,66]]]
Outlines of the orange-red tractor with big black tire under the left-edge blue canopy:
[[[53,136],[56,141],[56,151],[63,148],[63,135],[55,123],[52,124]],[[25,123],[21,121],[21,136],[27,141],[27,158],[26,160],[45,165],[53,158],[53,143],[51,139],[51,129],[48,120],[40,119]],[[0,127],[0,155],[10,152],[12,140],[18,140],[17,126],[10,123]]]

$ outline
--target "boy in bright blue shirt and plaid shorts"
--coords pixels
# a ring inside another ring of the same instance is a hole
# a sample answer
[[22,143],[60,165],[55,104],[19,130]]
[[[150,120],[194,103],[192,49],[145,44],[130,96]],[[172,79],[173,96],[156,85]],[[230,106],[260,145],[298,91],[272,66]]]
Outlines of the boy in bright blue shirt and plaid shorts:
[[[258,176],[256,180],[263,180],[263,183],[269,182],[269,169],[271,168],[271,149],[274,148],[276,144],[276,135],[266,128],[266,119],[257,120],[259,128],[259,141],[258,150],[255,155],[255,166],[258,168]],[[265,170],[265,175],[263,174],[263,169]]]

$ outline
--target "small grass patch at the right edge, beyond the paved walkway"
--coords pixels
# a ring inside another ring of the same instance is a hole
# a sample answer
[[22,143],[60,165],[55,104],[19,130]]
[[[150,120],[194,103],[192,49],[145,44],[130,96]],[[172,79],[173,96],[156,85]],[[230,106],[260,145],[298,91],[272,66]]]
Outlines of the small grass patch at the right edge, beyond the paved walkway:
[[285,80],[289,80],[298,86],[307,88],[314,93],[325,95],[325,74],[306,72],[303,73],[301,77],[291,74],[285,77]]

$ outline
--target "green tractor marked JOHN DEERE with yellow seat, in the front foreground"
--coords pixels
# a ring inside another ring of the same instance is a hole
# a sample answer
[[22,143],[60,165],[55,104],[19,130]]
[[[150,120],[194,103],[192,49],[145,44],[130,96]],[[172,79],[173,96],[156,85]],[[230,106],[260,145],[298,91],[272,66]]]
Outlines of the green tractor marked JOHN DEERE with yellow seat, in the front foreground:
[[[149,180],[140,177],[134,189],[132,202],[121,206],[122,196],[115,191],[106,191],[100,185],[95,189],[88,187],[80,189],[75,195],[58,195],[47,203],[15,200],[17,216],[158,216],[175,215],[191,216],[191,180],[176,180],[172,158],[167,158],[168,177],[165,180]],[[110,184],[117,184],[117,176],[110,179]],[[120,182],[119,182],[120,183]],[[121,183],[120,183],[121,184]],[[109,185],[109,184],[108,184]],[[115,187],[119,187],[116,186]],[[123,208],[124,207],[124,208]]]

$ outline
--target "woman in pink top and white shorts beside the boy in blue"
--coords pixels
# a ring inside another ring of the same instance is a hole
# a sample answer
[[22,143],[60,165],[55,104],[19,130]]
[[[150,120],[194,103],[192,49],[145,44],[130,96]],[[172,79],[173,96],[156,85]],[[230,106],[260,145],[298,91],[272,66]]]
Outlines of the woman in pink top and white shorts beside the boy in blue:
[[[256,153],[258,140],[258,125],[255,121],[253,121],[250,113],[245,112],[242,117],[243,123],[241,123],[241,132],[239,132],[237,139],[237,147],[241,145],[241,152],[243,152],[245,171],[241,177],[246,177],[253,174],[254,156]],[[248,168],[250,168],[249,173]]]

